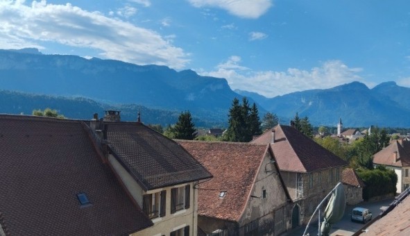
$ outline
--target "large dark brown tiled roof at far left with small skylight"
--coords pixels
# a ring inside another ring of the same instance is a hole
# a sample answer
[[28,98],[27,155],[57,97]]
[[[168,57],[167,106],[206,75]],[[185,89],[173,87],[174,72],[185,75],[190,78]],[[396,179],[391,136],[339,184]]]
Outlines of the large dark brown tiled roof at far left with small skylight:
[[[0,186],[6,235],[128,235],[152,225],[80,121],[0,115]],[[80,207],[80,192],[92,205]]]

